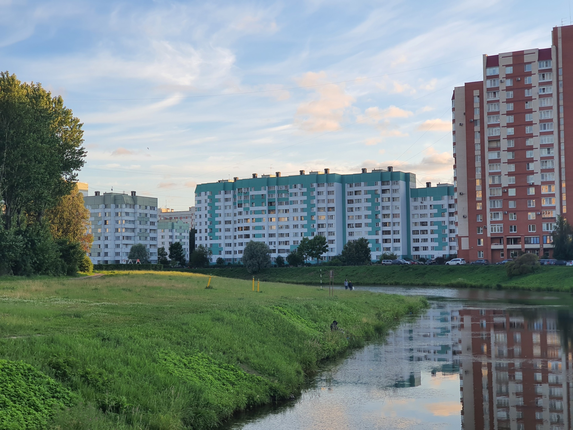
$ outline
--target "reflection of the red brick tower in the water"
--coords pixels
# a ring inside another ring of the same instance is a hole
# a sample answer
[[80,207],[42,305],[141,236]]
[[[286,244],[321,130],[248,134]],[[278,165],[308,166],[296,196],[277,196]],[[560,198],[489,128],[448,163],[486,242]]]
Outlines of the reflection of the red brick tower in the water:
[[568,429],[567,369],[554,319],[461,309],[462,424],[470,429]]

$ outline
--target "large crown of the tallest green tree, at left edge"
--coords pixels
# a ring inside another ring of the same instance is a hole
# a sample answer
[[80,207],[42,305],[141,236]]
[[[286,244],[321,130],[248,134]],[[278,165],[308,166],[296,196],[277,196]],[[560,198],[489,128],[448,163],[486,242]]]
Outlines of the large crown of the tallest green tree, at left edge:
[[84,165],[83,124],[41,84],[0,72],[0,199],[3,225],[37,221],[69,194]]

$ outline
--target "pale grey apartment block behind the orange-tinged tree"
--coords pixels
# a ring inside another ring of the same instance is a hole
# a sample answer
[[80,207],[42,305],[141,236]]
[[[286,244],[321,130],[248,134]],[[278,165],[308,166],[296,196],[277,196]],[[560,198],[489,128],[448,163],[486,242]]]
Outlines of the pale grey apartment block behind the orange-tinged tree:
[[104,193],[84,197],[90,212],[88,233],[93,234],[88,256],[94,264],[127,263],[132,245],[141,243],[157,263],[157,199],[129,194]]

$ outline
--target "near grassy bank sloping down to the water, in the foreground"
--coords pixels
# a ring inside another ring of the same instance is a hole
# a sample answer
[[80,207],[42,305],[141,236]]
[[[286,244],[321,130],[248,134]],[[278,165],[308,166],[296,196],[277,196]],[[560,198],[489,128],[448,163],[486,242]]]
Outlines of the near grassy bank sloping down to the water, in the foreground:
[[[327,289],[279,283],[261,283],[257,294],[248,281],[217,277],[213,289],[206,284],[177,272],[0,278],[0,429],[210,428],[296,394],[321,359],[426,305],[359,291],[329,299]],[[330,331],[333,319],[344,334]],[[51,406],[60,409],[53,417]]]

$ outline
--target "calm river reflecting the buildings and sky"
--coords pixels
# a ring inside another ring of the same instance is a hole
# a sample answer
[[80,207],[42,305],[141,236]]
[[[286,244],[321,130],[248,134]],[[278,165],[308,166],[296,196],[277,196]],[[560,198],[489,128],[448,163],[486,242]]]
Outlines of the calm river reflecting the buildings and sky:
[[571,294],[356,289],[425,295],[430,308],[403,321],[384,342],[325,363],[295,400],[248,413],[225,428],[571,428]]

